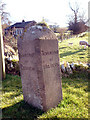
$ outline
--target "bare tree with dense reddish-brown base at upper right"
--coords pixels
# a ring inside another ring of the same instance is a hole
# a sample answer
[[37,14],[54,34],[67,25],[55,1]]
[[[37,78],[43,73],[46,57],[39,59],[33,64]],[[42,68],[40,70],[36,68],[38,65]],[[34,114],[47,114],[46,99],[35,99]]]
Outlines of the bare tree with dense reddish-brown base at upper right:
[[85,12],[79,13],[79,4],[75,2],[71,5],[69,2],[69,7],[73,12],[73,15],[69,16],[69,30],[73,31],[73,34],[78,34],[81,32],[86,31],[86,18],[85,18]]

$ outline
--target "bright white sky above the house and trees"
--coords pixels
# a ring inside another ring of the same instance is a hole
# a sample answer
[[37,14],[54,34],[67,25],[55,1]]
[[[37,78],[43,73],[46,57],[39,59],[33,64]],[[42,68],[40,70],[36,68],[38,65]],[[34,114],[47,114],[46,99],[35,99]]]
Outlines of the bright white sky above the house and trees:
[[[10,20],[21,22],[35,20],[40,22],[42,18],[48,19],[51,24],[57,23],[61,27],[67,26],[67,16],[72,13],[69,1],[75,0],[3,0],[6,3],[6,11],[10,13]],[[80,5],[81,12],[88,15],[89,0],[76,0]]]

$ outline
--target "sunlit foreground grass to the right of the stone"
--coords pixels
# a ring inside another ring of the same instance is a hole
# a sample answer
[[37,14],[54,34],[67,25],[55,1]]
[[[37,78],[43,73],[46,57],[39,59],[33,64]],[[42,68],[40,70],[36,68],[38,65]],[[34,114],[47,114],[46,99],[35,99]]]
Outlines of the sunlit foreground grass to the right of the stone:
[[63,101],[40,118],[87,118],[87,82],[82,79],[63,78]]

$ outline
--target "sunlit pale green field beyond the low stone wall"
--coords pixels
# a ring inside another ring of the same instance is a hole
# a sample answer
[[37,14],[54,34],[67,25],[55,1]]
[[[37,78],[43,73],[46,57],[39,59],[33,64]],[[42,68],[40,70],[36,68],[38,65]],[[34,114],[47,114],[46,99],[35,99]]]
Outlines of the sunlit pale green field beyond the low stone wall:
[[[59,42],[60,62],[82,62],[88,63],[88,47],[79,45],[79,41],[85,40],[88,42],[88,36],[71,38]],[[69,43],[73,43],[70,45]]]

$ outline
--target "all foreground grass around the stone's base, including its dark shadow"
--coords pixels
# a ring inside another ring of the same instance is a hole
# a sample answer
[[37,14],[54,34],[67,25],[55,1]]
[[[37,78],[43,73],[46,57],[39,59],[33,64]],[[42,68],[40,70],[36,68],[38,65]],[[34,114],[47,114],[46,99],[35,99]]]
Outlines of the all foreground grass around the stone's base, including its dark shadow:
[[82,77],[75,75],[62,78],[62,102],[56,108],[43,112],[24,102],[20,77],[7,75],[2,82],[3,118],[17,120],[88,118],[88,79],[86,76]]

